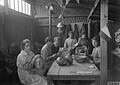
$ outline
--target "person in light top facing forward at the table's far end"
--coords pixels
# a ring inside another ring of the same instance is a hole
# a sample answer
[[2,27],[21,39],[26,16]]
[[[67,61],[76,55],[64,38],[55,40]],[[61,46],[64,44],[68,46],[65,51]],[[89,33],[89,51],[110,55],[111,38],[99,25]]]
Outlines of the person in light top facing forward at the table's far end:
[[70,31],[68,35],[69,37],[65,40],[64,48],[71,49],[77,43],[77,40],[74,39],[72,31]]

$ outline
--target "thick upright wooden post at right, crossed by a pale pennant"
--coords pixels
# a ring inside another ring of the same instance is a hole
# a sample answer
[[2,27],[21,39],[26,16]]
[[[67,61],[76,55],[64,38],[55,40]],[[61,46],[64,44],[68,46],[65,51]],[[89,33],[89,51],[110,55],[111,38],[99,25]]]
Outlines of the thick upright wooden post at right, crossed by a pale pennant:
[[[100,29],[107,26],[108,23],[108,0],[101,0],[101,15],[100,15]],[[107,57],[108,57],[108,42],[103,35],[100,35],[101,43],[101,83],[100,85],[107,85]]]

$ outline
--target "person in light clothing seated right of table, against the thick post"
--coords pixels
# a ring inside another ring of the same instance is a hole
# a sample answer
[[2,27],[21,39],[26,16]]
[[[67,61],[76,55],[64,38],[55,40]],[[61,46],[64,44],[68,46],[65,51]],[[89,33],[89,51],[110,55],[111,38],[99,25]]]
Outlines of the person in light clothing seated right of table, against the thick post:
[[94,63],[100,69],[101,51],[100,51],[100,37],[95,36],[92,38],[92,44],[94,46],[91,57]]

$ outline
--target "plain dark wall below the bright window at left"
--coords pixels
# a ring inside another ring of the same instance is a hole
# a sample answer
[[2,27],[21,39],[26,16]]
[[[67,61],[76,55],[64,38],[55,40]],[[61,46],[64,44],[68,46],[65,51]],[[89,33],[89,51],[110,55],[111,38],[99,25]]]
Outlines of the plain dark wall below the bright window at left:
[[14,10],[1,7],[0,12],[0,47],[8,50],[12,43],[19,45],[25,38],[32,39],[33,18]]

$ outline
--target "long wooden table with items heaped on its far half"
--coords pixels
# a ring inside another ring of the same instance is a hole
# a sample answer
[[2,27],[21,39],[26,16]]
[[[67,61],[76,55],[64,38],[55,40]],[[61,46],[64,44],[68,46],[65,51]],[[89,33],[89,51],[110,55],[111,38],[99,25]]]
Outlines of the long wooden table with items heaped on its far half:
[[94,64],[77,63],[71,66],[58,66],[54,62],[48,71],[47,77],[52,80],[99,80],[100,71]]

